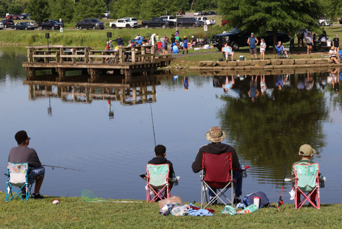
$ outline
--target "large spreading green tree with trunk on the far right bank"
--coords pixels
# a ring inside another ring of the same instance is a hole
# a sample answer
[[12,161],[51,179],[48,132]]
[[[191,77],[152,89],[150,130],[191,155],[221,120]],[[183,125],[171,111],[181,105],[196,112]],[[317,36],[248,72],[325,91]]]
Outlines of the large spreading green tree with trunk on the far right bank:
[[220,14],[233,27],[256,35],[272,30],[274,52],[278,31],[315,30],[318,16],[327,7],[324,0],[219,0],[218,6]]

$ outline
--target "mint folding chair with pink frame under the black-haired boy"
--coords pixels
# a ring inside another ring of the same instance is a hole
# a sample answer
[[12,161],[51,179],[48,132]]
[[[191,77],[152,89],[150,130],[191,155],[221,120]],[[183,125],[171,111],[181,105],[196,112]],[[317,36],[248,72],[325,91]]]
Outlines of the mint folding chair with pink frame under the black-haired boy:
[[[169,164],[146,165],[146,202],[151,203],[157,198],[165,199],[170,197],[169,172]],[[163,194],[165,191],[167,192],[166,196]],[[153,198],[150,192],[153,192]]]

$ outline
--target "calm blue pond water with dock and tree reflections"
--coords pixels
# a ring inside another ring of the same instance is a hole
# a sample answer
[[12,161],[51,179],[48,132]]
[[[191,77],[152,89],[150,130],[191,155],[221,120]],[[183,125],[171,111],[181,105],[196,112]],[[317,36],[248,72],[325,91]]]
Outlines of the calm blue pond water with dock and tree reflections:
[[[256,89],[256,76],[234,76],[233,87],[225,92],[226,76],[192,74],[160,74],[130,84],[101,77],[100,84],[91,87],[85,87],[86,79],[79,76],[59,85],[56,76],[38,76],[32,82],[26,81],[24,61],[25,48],[0,48],[2,173],[19,130],[28,132],[29,147],[43,164],[86,170],[46,167],[43,195],[80,196],[88,189],[105,198],[145,198],[145,183],[138,175],[154,157],[151,104],[157,144],[167,147],[167,159],[181,176],[172,195],[200,201],[200,177],[191,164],[199,147],[208,143],[205,132],[218,125],[227,132],[225,143],[251,166],[243,195],[263,191],[276,202],[289,147],[292,164],[300,160],[300,145],[308,143],[317,150],[313,161],[327,177],[321,201],[341,202],[339,71],[336,77],[335,72],[266,75],[266,91],[259,75]],[[289,175],[290,165],[288,169]],[[0,190],[5,190],[5,177]],[[288,191],[287,184],[285,202],[290,202]]]

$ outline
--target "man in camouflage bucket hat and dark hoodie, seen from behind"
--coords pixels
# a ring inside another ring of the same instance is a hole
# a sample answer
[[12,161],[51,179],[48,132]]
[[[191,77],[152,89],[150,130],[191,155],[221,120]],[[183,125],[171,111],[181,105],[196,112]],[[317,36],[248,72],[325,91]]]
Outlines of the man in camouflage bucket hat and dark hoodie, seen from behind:
[[[222,153],[232,153],[232,166],[233,168],[240,168],[239,159],[237,157],[235,149],[227,144],[221,143],[226,138],[225,131],[222,131],[220,127],[212,127],[208,132],[205,133],[206,139],[208,139],[211,143],[207,145],[203,145],[199,148],[199,152],[197,153],[196,159],[192,164],[192,169],[195,173],[199,172],[202,167],[202,153],[209,154],[222,154]],[[229,171],[227,171],[229,172]],[[240,176],[240,172],[234,172],[234,179],[237,179]],[[216,189],[213,189],[216,192]],[[214,194],[211,190],[208,191],[210,199],[214,198]],[[242,179],[238,179],[236,183],[235,195],[236,198],[242,194]],[[238,199],[234,200],[238,201]],[[214,202],[214,204],[216,201]]]

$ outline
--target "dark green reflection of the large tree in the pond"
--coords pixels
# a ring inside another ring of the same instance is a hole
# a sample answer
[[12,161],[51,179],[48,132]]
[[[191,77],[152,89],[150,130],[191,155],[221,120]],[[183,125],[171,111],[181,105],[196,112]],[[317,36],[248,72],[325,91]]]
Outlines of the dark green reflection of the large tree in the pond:
[[[328,109],[323,93],[316,88],[275,89],[272,96],[262,96],[256,102],[248,98],[247,90],[240,91],[238,98],[222,96],[221,99],[227,105],[218,111],[218,117],[227,131],[227,140],[233,142],[239,157],[252,166],[283,170],[289,144],[292,145],[289,164],[299,161],[300,145],[311,144],[318,156],[325,145],[322,121],[327,120]],[[272,172],[268,176],[282,179],[282,173]]]

